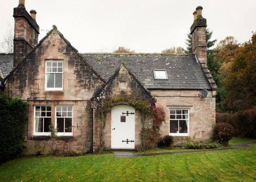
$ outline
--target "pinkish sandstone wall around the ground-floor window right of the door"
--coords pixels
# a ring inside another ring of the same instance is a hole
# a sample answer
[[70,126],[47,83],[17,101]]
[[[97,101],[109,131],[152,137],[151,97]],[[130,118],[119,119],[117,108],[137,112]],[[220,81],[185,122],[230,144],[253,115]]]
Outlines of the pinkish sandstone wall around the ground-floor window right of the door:
[[[166,117],[161,134],[169,134],[169,109],[189,109],[189,135],[193,141],[207,141],[215,125],[215,97],[208,92],[206,98],[200,98],[200,90],[151,90],[157,99],[156,105],[163,106]],[[186,137],[174,137],[177,145],[184,143]]]

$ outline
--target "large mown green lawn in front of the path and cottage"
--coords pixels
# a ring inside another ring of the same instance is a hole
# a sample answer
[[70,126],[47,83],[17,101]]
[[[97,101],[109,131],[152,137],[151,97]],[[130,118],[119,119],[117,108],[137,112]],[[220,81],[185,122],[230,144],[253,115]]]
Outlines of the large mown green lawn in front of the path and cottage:
[[25,157],[0,166],[1,181],[255,181],[251,149],[114,158]]

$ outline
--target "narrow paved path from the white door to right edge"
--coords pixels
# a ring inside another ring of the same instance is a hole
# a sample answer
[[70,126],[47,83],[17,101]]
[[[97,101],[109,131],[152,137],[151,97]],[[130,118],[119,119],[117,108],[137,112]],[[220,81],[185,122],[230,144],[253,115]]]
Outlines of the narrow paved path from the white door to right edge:
[[234,149],[253,148],[254,146],[251,146],[250,144],[256,144],[256,142],[235,144],[235,145],[231,145],[230,147],[226,147],[226,148],[190,150],[190,151],[179,151],[179,152],[136,153],[133,151],[114,151],[114,157],[125,158],[125,157],[154,156],[154,155],[166,155],[166,154],[196,153],[196,152],[208,152],[208,151],[218,151],[218,150],[234,150]]

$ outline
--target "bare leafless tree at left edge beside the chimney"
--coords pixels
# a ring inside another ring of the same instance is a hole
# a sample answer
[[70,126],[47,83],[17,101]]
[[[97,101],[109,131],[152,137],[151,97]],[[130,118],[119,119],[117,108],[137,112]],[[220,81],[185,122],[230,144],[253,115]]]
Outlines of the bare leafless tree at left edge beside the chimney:
[[13,28],[10,27],[9,30],[7,30],[5,36],[3,37],[1,47],[6,53],[13,53],[13,34]]

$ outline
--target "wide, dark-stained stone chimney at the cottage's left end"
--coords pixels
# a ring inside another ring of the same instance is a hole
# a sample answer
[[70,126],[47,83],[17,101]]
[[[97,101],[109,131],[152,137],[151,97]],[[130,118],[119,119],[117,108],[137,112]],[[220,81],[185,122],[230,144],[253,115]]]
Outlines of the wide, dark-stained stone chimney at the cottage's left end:
[[36,23],[36,11],[31,15],[25,8],[25,0],[19,0],[18,7],[13,10],[14,40],[13,40],[13,66],[23,60],[38,43],[39,26]]

